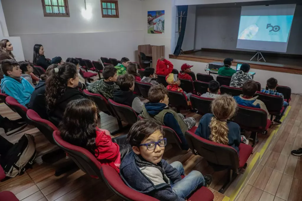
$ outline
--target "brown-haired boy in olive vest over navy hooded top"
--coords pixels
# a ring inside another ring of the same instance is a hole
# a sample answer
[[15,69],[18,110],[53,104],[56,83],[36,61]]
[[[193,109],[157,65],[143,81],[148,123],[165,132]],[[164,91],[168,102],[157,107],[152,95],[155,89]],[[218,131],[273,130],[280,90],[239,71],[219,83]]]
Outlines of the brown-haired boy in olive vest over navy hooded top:
[[172,128],[178,135],[183,150],[188,150],[189,145],[185,139],[185,132],[196,124],[193,117],[185,118],[169,108],[168,90],[164,85],[154,85],[148,92],[149,103],[142,106],[144,119],[155,119],[162,125]]

